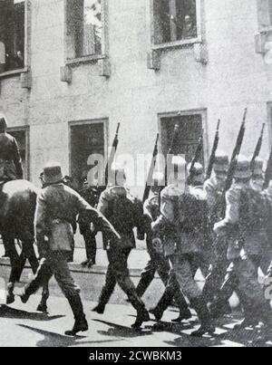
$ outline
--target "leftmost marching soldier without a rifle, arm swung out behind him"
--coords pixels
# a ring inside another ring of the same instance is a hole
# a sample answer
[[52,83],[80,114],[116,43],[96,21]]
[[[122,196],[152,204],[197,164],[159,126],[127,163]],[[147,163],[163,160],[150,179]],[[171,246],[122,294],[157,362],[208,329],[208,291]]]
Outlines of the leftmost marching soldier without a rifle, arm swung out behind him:
[[92,208],[71,187],[63,184],[61,165],[49,163],[44,168],[44,187],[38,196],[34,218],[35,237],[39,255],[43,257],[34,280],[24,287],[21,300],[26,303],[44,283],[54,276],[67,298],[74,315],[72,331],[67,335],[75,335],[79,331],[87,331],[83,312],[80,289],[73,282],[67,258],[73,245],[73,227],[75,216],[84,212],[85,219],[93,222],[97,229],[109,235],[120,237],[111,224]]

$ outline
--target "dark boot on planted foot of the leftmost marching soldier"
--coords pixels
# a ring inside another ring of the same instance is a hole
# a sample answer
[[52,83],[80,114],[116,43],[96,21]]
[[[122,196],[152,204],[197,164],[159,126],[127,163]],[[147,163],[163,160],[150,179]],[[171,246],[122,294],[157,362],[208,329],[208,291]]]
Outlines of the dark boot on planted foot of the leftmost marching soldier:
[[75,336],[77,332],[88,331],[88,322],[83,312],[83,303],[80,295],[76,294],[67,299],[73,311],[74,324],[73,329],[71,331],[65,331],[65,334],[67,336]]

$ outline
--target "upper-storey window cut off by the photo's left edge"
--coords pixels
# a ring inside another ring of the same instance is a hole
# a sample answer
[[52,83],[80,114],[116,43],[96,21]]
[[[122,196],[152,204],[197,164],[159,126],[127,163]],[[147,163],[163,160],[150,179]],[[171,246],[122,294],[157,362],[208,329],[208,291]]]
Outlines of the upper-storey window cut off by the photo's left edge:
[[0,0],[0,72],[24,68],[24,0]]

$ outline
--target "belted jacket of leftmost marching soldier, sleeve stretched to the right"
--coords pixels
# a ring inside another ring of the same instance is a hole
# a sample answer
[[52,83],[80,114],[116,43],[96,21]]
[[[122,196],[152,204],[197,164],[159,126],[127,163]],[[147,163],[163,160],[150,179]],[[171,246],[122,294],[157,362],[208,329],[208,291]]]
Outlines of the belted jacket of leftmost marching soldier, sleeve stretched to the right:
[[[112,226],[107,219],[71,187],[61,183],[42,189],[37,198],[34,216],[38,246],[52,251],[70,251],[73,239],[72,225],[75,217],[83,212],[86,220],[92,221],[97,230],[112,233]],[[47,247],[44,247],[44,235],[49,238]]]

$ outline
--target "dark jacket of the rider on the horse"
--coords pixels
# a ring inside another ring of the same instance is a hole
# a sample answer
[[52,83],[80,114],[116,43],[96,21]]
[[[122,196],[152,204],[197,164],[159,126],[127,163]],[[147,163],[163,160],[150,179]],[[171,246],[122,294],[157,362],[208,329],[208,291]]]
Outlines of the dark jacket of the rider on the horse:
[[22,161],[16,139],[0,133],[0,180],[23,178]]

